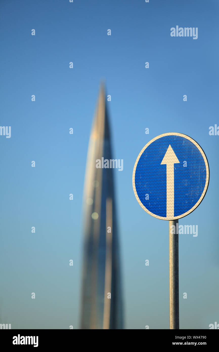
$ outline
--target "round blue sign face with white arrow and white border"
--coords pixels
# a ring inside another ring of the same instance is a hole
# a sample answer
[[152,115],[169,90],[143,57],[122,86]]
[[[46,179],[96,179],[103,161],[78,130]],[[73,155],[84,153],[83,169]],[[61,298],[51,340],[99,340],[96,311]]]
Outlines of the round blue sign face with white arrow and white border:
[[133,189],[140,206],[162,220],[193,212],[205,196],[209,167],[204,151],[191,137],[164,133],[141,150],[133,170]]

